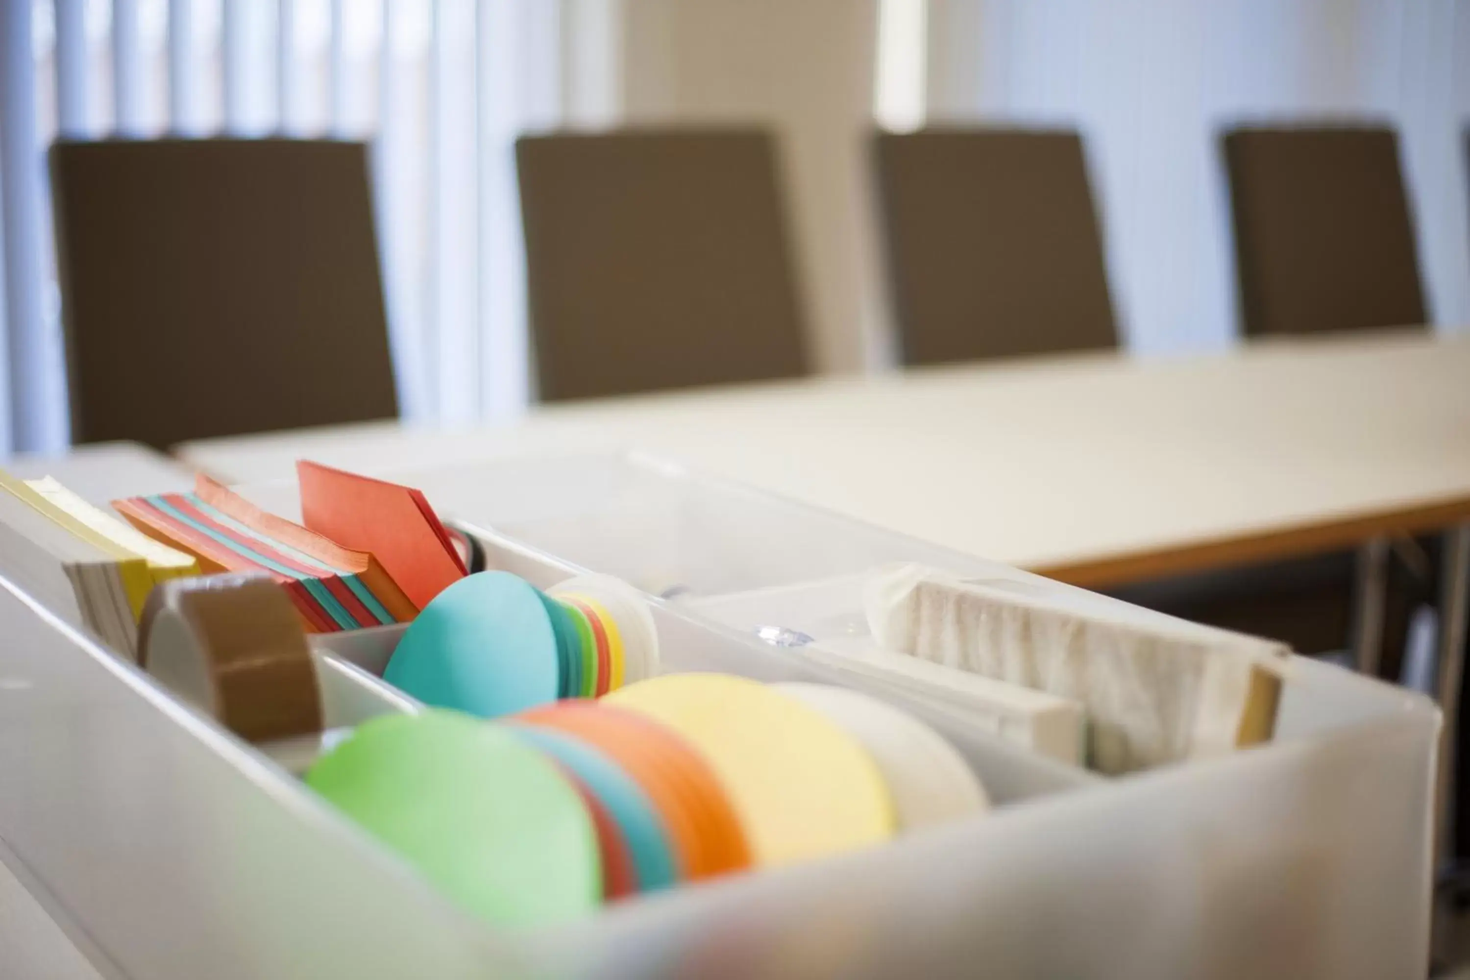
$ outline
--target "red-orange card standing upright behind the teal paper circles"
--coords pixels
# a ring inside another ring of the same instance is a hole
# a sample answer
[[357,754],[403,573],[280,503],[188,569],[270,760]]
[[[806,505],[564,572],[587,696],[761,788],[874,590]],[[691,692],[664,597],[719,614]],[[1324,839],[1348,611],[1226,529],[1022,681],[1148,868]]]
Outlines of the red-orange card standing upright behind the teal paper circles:
[[298,460],[301,523],[356,551],[370,551],[420,610],[469,572],[444,525],[416,489]]

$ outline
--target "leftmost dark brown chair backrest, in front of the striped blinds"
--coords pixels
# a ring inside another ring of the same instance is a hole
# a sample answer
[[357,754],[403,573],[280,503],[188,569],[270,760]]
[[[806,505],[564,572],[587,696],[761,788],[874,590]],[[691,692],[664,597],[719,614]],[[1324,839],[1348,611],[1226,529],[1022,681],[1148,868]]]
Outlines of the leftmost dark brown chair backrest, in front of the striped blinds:
[[357,143],[57,143],[72,438],[397,414]]

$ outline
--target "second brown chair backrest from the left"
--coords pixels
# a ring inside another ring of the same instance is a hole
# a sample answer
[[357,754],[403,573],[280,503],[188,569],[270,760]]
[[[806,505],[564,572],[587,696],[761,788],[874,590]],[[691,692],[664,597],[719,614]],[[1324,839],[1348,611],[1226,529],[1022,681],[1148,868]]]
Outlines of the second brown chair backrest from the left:
[[516,163],[542,400],[806,373],[769,134],[523,137]]

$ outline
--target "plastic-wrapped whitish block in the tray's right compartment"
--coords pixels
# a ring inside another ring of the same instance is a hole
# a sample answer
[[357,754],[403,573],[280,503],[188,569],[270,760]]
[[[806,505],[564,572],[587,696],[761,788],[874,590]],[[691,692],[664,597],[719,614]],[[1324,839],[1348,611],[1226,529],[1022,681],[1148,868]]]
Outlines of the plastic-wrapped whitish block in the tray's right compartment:
[[1127,773],[1269,741],[1282,644],[1158,616],[1048,582],[875,576],[867,621],[888,649],[1082,705],[1088,764]]

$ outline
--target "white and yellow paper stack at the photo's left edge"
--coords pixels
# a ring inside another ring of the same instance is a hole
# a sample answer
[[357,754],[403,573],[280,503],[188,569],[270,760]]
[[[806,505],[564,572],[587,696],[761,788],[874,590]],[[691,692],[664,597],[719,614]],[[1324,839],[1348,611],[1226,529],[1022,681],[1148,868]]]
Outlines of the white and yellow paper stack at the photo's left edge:
[[188,554],[140,535],[56,480],[0,472],[0,570],[126,657],[154,583],[197,574]]

